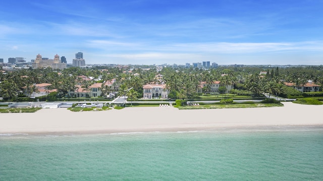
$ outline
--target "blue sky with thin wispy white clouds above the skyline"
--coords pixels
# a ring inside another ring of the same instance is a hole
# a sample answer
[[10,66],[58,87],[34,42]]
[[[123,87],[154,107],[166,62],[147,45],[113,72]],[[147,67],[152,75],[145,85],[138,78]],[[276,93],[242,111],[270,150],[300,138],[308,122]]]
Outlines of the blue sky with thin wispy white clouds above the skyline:
[[321,0],[3,1],[0,58],[323,64]]

